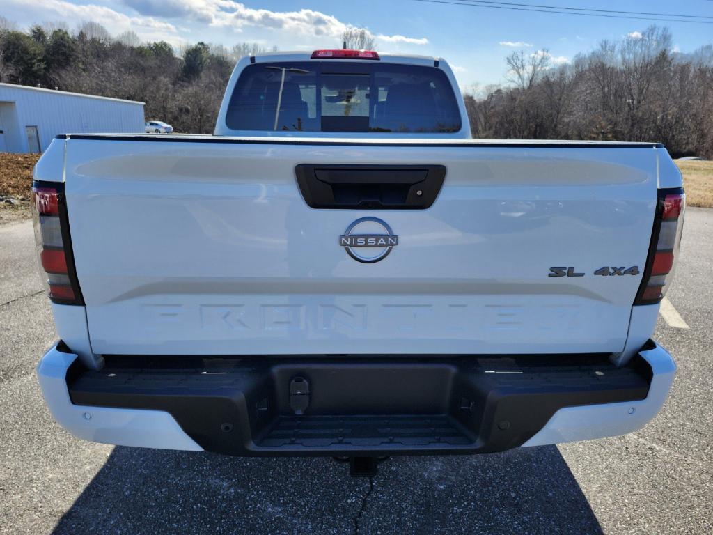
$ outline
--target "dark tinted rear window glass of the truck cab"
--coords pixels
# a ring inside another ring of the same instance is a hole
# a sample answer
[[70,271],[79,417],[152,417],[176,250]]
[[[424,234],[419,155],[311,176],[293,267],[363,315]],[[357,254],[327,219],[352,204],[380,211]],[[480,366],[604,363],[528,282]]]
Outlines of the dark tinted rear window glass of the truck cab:
[[232,130],[449,133],[458,102],[438,68],[339,61],[255,63],[240,74]]

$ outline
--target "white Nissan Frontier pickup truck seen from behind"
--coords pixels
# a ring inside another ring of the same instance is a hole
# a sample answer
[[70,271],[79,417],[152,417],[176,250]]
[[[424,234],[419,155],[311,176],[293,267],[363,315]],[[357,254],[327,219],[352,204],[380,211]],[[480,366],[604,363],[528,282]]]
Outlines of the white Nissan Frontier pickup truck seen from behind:
[[684,212],[657,143],[473,140],[448,64],[243,58],[215,135],[63,135],[34,171],[83,439],[469,454],[632,432]]

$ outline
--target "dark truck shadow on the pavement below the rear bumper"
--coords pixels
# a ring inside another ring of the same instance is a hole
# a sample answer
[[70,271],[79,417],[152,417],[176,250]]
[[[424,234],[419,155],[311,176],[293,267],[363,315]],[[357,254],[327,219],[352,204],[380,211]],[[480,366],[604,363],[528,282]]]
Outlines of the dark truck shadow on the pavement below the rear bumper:
[[116,447],[53,533],[602,533],[553,446],[396,457],[372,481],[348,472],[329,458]]

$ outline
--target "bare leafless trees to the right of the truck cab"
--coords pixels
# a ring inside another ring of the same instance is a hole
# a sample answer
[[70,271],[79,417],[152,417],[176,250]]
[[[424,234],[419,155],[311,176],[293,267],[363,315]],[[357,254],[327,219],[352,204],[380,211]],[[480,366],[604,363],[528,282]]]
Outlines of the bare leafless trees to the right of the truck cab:
[[713,158],[713,46],[674,51],[666,28],[602,41],[571,63],[508,56],[510,85],[465,93],[473,136],[660,141],[674,157]]

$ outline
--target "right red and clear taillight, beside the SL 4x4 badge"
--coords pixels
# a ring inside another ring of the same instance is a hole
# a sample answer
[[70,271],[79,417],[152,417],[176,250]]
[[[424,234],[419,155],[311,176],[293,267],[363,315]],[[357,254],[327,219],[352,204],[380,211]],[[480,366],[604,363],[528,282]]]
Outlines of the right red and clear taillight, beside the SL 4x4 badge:
[[681,246],[685,208],[682,188],[659,190],[649,258],[635,305],[657,303],[666,295]]

